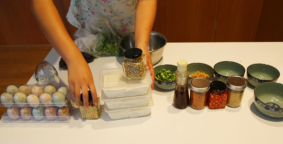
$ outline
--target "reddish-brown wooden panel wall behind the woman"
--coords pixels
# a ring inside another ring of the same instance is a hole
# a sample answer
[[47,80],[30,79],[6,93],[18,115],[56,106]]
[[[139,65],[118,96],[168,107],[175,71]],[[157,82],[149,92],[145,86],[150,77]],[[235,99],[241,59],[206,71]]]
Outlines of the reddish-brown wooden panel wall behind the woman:
[[[70,0],[54,0],[69,34]],[[49,44],[30,0],[2,0],[0,45]],[[153,31],[168,42],[283,41],[283,0],[159,0]]]

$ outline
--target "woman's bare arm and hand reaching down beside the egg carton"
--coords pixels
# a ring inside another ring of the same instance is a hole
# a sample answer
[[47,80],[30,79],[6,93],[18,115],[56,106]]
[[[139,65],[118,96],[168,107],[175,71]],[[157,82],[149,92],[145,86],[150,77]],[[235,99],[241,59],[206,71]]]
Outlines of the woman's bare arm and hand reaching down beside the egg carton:
[[84,107],[88,107],[88,88],[96,104],[96,90],[89,65],[68,34],[53,1],[32,0],[31,9],[43,34],[68,66],[68,82],[76,105],[80,105],[82,89]]

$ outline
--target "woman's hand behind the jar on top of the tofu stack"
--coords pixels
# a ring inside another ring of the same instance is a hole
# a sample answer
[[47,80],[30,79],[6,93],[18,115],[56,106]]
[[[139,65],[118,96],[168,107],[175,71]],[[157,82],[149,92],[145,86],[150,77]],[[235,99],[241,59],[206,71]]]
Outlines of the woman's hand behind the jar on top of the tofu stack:
[[147,45],[141,45],[138,44],[137,48],[142,49],[142,52],[145,54],[145,58],[146,58],[146,69],[150,71],[150,75],[151,75],[151,79],[152,79],[152,83],[151,83],[151,89],[153,89],[154,86],[154,68],[152,65],[152,61],[151,61],[151,55],[148,51],[148,46]]

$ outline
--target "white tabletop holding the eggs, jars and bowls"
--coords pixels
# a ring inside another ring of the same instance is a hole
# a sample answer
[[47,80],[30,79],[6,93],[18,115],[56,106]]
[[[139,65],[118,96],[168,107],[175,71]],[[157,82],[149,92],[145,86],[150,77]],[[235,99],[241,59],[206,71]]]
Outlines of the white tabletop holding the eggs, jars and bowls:
[[[270,64],[283,73],[282,48],[282,42],[167,43],[163,59],[155,66],[176,65],[179,59],[212,67],[219,61],[235,61],[245,68],[254,63]],[[98,94],[99,71],[122,67],[122,58],[106,56],[89,64]],[[67,83],[67,70],[59,69],[59,59],[54,49],[45,58]],[[278,82],[283,83],[282,76]],[[36,83],[35,77],[28,83]],[[83,120],[76,109],[70,123],[0,122],[0,143],[283,143],[283,119],[261,114],[253,104],[251,88],[245,90],[240,107],[222,110],[178,110],[172,106],[173,93],[155,87],[151,115],[140,118],[111,120],[102,112],[98,120]]]

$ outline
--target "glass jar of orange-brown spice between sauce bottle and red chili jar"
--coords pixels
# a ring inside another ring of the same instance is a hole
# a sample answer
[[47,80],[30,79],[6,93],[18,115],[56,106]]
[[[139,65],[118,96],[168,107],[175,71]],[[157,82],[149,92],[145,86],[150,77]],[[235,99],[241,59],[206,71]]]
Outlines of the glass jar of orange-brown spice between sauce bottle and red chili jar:
[[202,77],[195,77],[190,81],[190,105],[194,109],[203,109],[207,104],[210,82]]

